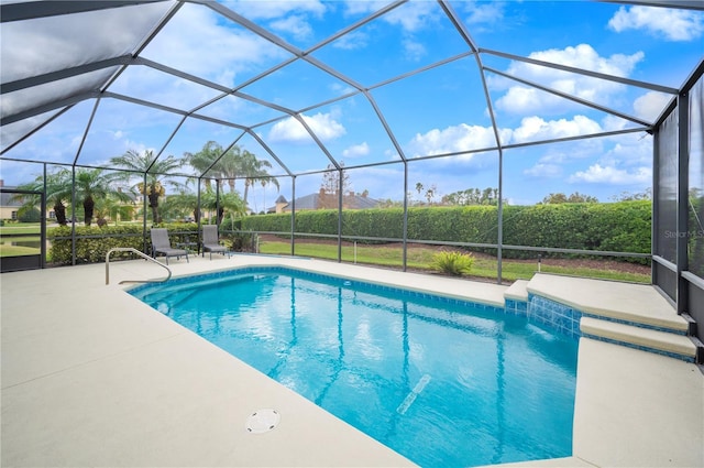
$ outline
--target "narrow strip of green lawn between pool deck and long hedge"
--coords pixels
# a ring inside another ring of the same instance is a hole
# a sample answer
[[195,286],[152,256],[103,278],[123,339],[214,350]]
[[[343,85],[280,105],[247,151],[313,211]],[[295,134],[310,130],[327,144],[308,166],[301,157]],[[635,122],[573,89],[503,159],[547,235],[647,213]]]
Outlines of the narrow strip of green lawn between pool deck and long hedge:
[[[260,242],[260,252],[268,254],[290,254],[290,243],[286,241],[265,240]],[[411,270],[433,271],[430,266],[437,249],[432,247],[414,247],[407,250],[407,268]],[[296,255],[314,257],[318,259],[337,260],[338,246],[332,243],[296,242]],[[342,261],[354,262],[354,247],[342,247]],[[403,249],[400,247],[359,246],[356,247],[356,262],[361,264],[395,266],[403,264]],[[475,255],[470,277],[496,279],[497,261],[487,255]],[[626,271],[627,268],[613,268],[616,262],[590,262],[586,266],[579,260],[542,261],[540,271],[543,273],[570,274],[605,280],[632,281],[650,283],[650,274],[646,272]],[[559,264],[558,264],[559,263]],[[626,264],[624,265],[626,266]],[[537,261],[506,260],[502,262],[502,276],[505,281],[529,280],[538,271]]]

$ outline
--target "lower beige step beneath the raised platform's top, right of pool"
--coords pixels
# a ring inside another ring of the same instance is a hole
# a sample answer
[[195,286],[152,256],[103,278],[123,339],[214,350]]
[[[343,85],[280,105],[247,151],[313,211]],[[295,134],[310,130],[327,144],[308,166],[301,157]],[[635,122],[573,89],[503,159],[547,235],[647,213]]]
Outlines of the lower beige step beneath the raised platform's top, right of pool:
[[583,337],[628,346],[645,351],[656,352],[672,358],[694,362],[697,345],[692,337],[602,320],[595,317],[582,317],[580,330]]

